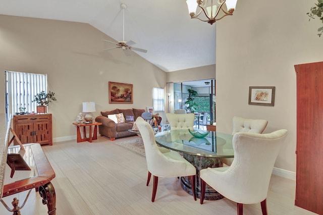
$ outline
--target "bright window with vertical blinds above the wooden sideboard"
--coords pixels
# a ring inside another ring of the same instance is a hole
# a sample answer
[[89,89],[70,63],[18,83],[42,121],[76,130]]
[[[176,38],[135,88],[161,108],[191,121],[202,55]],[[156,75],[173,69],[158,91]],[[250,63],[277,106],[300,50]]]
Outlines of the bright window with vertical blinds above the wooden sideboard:
[[34,96],[47,92],[47,75],[5,71],[6,114],[14,115],[19,108],[25,112],[36,111]]

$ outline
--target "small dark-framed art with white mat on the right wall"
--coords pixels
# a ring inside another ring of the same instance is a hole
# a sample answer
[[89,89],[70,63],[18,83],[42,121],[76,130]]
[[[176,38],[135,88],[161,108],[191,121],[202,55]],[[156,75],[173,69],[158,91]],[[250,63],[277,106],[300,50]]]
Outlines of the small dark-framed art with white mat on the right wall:
[[249,104],[274,106],[275,87],[249,87]]

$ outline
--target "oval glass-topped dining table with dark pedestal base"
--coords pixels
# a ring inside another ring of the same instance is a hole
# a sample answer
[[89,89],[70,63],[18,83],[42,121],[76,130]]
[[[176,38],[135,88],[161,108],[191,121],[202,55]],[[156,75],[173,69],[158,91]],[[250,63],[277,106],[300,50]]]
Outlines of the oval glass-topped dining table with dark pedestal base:
[[[205,137],[195,137],[194,132],[199,132]],[[183,157],[196,168],[196,197],[200,198],[200,177],[199,171],[206,168],[223,167],[222,158],[234,157],[232,146],[232,134],[226,134],[215,131],[194,130],[189,132],[188,129],[162,131],[155,134],[156,143],[159,146],[181,152]],[[189,177],[181,177],[181,187],[183,190],[192,195],[191,182]],[[206,185],[206,200],[222,199],[220,193]]]

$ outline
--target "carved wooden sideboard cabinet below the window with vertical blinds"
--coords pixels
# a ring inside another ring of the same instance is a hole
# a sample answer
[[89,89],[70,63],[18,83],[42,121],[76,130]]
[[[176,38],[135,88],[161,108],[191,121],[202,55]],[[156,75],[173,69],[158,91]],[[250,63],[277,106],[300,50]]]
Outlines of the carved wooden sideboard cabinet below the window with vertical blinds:
[[51,114],[14,115],[13,122],[14,131],[23,144],[52,145]]

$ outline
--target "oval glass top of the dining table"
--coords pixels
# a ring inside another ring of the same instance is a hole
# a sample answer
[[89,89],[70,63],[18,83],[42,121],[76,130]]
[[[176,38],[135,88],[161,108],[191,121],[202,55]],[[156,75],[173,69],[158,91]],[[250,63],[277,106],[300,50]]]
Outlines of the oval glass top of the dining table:
[[206,157],[234,157],[232,137],[232,134],[210,131],[204,138],[196,138],[188,129],[162,131],[155,135],[160,146]]

